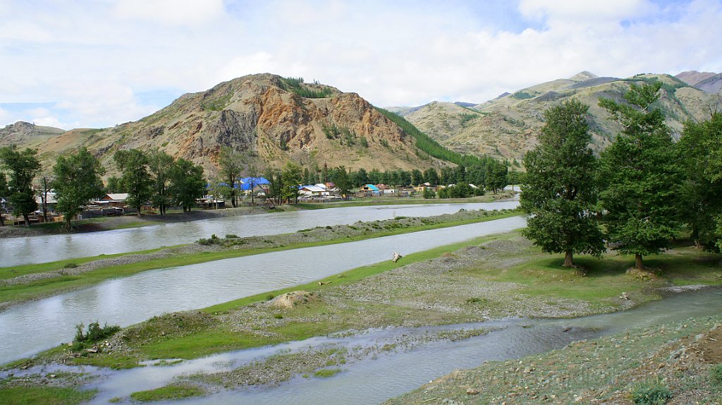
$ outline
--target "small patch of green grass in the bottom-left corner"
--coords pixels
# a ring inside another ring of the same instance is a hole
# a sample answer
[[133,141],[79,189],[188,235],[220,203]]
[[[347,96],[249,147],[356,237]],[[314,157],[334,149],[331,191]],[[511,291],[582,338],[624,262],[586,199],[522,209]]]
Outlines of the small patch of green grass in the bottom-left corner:
[[0,389],[4,405],[72,405],[90,401],[97,391],[58,387],[12,387]]

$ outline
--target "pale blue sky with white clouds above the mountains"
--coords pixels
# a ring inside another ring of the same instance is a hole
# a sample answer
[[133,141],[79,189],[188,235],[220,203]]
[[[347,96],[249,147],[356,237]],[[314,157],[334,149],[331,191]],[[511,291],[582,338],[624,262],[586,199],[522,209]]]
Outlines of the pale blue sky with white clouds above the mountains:
[[137,121],[245,74],[374,105],[722,72],[722,0],[0,0],[0,127]]

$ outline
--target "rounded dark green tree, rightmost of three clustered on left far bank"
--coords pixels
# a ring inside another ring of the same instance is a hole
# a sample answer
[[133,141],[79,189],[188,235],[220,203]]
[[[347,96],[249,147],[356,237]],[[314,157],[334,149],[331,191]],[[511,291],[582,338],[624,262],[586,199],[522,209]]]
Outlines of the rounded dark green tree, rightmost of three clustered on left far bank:
[[182,206],[184,213],[191,212],[191,208],[196,205],[196,199],[200,199],[206,191],[203,167],[179,158],[171,165],[168,176],[171,201]]

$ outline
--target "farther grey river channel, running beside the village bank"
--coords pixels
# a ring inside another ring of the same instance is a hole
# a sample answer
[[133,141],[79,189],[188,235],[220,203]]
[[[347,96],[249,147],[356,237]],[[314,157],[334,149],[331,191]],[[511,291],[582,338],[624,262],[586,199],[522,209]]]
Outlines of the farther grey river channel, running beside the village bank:
[[215,234],[276,235],[318,226],[349,225],[393,217],[431,217],[459,209],[512,209],[518,200],[474,204],[351,206],[313,211],[219,217],[123,230],[0,239],[0,267],[125,253],[191,243]]

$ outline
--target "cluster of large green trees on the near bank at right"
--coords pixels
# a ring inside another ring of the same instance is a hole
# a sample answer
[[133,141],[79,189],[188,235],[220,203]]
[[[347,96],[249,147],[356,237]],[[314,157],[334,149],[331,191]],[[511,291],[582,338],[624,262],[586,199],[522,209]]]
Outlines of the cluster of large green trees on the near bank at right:
[[[722,248],[722,116],[687,123],[675,144],[654,108],[660,83],[632,84],[627,103],[601,99],[622,133],[600,157],[589,144],[588,106],[570,101],[544,113],[539,146],[526,154],[521,206],[527,237],[548,253],[599,256],[604,240],[620,253],[660,253],[687,225],[699,245]],[[604,231],[600,225],[604,225]]]

